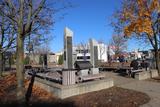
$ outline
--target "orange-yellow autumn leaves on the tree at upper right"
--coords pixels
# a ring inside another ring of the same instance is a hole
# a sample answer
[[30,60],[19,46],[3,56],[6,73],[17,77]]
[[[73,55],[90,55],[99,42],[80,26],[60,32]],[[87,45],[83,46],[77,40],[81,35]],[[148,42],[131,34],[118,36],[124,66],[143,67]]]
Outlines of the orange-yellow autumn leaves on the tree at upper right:
[[[153,35],[152,19],[151,14],[153,11],[159,11],[159,0],[152,0],[150,4],[146,4],[146,0],[137,0],[138,12],[137,16],[133,15],[133,10],[126,10],[125,16],[129,18],[130,23],[125,26],[124,33],[130,36],[133,32],[135,33],[147,33]],[[149,7],[146,7],[149,6]]]

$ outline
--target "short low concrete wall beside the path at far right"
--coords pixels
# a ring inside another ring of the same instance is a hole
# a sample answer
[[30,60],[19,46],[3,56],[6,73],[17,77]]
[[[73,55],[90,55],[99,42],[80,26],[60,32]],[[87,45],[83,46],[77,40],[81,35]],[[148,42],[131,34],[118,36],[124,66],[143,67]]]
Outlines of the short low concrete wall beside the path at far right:
[[158,71],[155,69],[152,69],[151,71],[143,71],[135,74],[135,79],[138,80],[145,80],[149,78],[154,78],[158,76]]

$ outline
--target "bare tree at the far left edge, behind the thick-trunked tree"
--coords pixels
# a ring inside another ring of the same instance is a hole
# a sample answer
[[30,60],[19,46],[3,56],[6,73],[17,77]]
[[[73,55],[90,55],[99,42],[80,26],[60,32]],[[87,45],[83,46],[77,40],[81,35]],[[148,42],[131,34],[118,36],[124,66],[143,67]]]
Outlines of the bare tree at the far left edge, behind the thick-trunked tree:
[[15,48],[15,35],[11,24],[4,18],[0,17],[0,76],[4,71],[5,56],[4,54]]

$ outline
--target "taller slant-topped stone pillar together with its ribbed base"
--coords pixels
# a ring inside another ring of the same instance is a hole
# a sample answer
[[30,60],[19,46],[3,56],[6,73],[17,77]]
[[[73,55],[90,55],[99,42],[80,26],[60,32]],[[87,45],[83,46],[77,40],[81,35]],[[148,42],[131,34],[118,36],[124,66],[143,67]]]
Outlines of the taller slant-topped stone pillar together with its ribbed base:
[[62,84],[75,84],[75,70],[72,62],[72,37],[73,32],[69,28],[64,29],[64,69],[62,72]]

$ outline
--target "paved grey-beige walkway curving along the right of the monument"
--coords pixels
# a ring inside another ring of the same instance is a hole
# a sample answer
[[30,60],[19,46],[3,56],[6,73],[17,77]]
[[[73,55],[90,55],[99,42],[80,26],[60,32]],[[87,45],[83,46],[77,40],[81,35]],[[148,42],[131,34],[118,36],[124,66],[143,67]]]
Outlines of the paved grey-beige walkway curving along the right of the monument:
[[142,107],[160,107],[160,83],[126,78],[113,72],[105,72],[105,74],[106,77],[114,79],[115,86],[140,91],[149,95],[151,100],[149,103],[142,105]]

